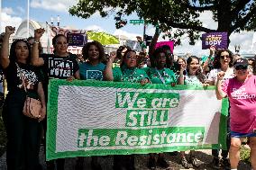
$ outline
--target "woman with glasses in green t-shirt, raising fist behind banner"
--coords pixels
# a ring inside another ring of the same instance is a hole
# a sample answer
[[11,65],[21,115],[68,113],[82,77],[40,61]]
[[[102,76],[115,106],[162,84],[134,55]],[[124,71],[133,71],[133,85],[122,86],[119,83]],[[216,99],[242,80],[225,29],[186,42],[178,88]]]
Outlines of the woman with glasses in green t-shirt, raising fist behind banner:
[[[138,57],[132,49],[127,49],[123,55],[120,67],[112,68],[115,54],[111,56],[106,64],[104,79],[114,82],[131,82],[145,85],[150,83],[149,77],[143,69],[138,68]],[[114,170],[134,170],[134,155],[114,156]]]

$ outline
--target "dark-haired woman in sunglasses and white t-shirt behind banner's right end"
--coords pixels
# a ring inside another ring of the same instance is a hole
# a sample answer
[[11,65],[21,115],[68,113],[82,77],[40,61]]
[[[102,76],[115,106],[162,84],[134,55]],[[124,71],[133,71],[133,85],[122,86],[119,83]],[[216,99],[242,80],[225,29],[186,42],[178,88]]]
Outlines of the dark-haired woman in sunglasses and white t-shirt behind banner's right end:
[[[211,70],[207,83],[209,85],[216,85],[217,83],[217,74],[220,72],[224,72],[224,80],[233,78],[233,54],[228,49],[221,49],[218,50],[214,59],[214,69]],[[213,149],[212,155],[214,156],[212,166],[215,169],[219,169],[220,165],[224,166],[224,168],[229,168],[230,163],[228,161],[228,150],[230,147],[230,126],[229,126],[229,115],[227,119],[227,138],[226,138],[226,145],[227,150],[222,150],[222,159],[219,160],[219,150]]]

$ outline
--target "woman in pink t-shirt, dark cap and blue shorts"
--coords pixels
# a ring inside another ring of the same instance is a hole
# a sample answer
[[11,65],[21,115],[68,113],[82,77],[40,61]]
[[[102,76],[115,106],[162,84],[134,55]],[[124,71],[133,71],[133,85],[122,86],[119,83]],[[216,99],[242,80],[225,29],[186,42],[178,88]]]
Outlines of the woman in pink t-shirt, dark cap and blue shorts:
[[[256,169],[256,76],[249,75],[248,60],[239,58],[233,63],[235,76],[224,81],[224,71],[217,75],[216,97],[230,101],[231,169],[237,169],[242,138],[249,137],[251,169]],[[224,82],[223,82],[224,81]]]

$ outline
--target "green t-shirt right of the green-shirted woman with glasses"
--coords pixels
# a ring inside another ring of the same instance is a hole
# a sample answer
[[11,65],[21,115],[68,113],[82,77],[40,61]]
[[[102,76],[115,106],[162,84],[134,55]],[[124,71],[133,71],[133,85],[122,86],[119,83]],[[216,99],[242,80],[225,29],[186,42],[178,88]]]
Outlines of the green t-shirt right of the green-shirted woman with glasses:
[[155,67],[146,67],[144,69],[150,77],[152,84],[177,84],[177,78],[175,76],[175,73],[169,68],[163,68],[158,70]]

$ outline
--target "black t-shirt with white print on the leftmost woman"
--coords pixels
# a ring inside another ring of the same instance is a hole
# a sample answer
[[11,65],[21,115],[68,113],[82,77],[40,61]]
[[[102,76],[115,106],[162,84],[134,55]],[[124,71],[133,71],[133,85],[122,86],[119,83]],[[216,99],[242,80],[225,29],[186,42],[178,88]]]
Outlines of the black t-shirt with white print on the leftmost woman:
[[[39,70],[36,67],[23,63],[18,63],[18,65],[23,73],[27,91],[37,93],[38,84],[41,82]],[[9,66],[4,69],[4,74],[9,92],[16,89],[24,89],[22,77],[14,62],[10,62]]]

